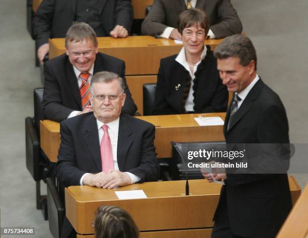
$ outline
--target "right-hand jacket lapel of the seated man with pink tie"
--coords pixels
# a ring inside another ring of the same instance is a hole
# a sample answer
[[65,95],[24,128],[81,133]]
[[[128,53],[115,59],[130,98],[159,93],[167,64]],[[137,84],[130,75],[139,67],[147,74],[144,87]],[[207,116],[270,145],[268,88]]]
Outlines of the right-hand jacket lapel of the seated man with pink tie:
[[120,116],[117,161],[120,171],[124,171],[127,151],[133,141],[132,130],[127,123],[125,116]]

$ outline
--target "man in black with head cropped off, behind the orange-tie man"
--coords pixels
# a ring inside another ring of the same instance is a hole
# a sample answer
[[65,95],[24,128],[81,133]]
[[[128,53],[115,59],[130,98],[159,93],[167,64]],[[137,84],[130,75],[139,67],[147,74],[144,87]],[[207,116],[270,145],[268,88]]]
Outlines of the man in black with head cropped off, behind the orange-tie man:
[[48,38],[65,37],[73,22],[86,22],[97,36],[128,36],[133,21],[130,0],[44,0],[33,19],[41,63],[49,51]]

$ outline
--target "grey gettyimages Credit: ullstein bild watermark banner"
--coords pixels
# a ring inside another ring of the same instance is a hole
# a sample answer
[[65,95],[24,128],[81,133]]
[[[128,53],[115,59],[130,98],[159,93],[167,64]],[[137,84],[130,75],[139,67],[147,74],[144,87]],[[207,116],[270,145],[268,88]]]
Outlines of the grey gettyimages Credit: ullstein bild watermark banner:
[[181,145],[188,170],[226,169],[234,174],[308,173],[308,144],[202,143]]

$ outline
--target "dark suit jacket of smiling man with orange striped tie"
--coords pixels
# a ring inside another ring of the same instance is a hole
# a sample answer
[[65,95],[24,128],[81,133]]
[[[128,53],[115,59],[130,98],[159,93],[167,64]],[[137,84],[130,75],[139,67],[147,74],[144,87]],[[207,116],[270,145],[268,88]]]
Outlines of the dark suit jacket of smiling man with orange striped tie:
[[[125,81],[125,63],[115,57],[98,53],[94,62],[93,73],[111,71],[119,74]],[[82,111],[78,79],[68,56],[63,54],[44,64],[44,95],[43,114],[45,119],[62,121],[72,111]],[[125,81],[126,82],[126,81]],[[127,85],[125,86],[126,100],[122,111],[134,115],[137,107]]]

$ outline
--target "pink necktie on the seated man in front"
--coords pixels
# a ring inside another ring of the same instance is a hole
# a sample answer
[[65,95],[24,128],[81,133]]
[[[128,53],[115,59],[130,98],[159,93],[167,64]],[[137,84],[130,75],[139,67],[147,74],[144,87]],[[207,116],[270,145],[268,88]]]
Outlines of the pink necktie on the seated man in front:
[[109,170],[113,170],[112,148],[108,133],[108,126],[105,124],[102,128],[104,130],[104,135],[101,142],[102,171],[108,173]]

